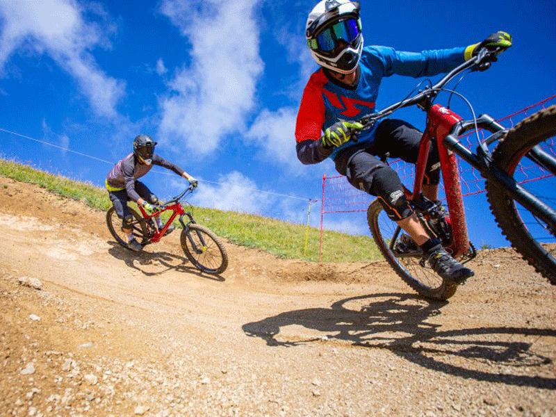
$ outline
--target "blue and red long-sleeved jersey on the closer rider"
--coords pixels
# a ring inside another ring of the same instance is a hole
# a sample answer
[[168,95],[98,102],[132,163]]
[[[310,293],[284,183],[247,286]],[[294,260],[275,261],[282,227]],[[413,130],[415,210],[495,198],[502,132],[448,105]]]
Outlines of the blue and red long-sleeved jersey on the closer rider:
[[[304,164],[318,163],[329,157],[334,159],[341,149],[353,146],[350,140],[341,147],[316,149],[322,132],[338,120],[359,120],[375,113],[375,103],[380,83],[385,76],[393,74],[419,78],[443,74],[464,62],[465,48],[440,49],[420,53],[396,51],[389,47],[365,47],[359,60],[359,81],[349,86],[327,74],[320,68],[314,72],[303,92],[297,113],[295,140],[297,156]],[[374,129],[362,131],[359,143],[372,142]],[[312,141],[312,142],[309,142]]]

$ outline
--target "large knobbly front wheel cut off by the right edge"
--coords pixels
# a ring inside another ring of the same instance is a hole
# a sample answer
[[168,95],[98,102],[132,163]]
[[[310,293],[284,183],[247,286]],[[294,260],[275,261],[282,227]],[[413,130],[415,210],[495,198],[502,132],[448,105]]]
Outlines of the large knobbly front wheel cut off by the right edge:
[[[516,124],[500,140],[493,161],[529,193],[556,210],[556,106]],[[556,285],[556,230],[486,181],[496,222],[512,246],[535,270]]]

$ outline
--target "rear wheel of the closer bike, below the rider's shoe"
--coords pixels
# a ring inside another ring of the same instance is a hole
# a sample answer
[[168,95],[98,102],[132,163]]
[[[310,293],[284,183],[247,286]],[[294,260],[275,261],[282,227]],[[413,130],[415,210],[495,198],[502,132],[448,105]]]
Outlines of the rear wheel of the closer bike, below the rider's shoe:
[[448,300],[455,294],[457,284],[445,281],[425,264],[420,247],[386,215],[378,200],[369,205],[367,221],[380,252],[407,285],[432,300]]

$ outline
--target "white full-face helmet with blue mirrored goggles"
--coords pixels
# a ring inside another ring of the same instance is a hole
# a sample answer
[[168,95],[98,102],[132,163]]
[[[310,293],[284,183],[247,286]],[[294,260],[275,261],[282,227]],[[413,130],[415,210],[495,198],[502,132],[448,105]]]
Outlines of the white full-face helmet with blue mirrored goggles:
[[349,74],[361,58],[359,1],[322,0],[309,13],[305,36],[316,63]]

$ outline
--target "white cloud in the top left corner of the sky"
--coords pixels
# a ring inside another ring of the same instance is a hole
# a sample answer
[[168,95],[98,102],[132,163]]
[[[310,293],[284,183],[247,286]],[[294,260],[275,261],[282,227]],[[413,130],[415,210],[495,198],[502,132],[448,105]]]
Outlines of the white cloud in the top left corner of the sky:
[[[76,79],[97,115],[115,117],[125,84],[106,75],[90,54],[110,44],[98,24],[85,22],[84,11],[73,0],[0,0],[0,74],[19,48],[48,54]],[[106,17],[97,3],[89,11]]]

